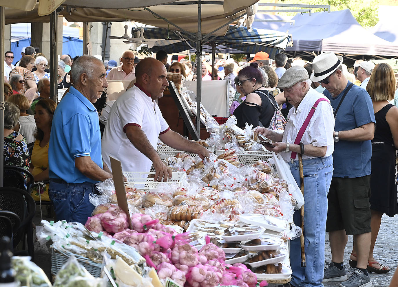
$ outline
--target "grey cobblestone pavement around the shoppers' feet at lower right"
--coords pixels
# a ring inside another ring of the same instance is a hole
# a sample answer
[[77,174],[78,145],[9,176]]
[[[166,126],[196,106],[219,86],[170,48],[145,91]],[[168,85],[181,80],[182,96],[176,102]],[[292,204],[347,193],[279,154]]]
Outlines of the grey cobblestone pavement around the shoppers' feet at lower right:
[[[388,287],[398,266],[398,217],[382,217],[380,231],[378,233],[374,256],[380,263],[391,268],[391,271],[384,274],[370,273],[373,286]],[[330,252],[329,237],[326,233],[325,242],[325,260],[330,262],[332,260],[332,253]],[[352,236],[348,237],[348,243],[344,252],[344,264],[347,275],[352,272],[348,260],[352,250]],[[325,282],[325,287],[338,286],[339,282]],[[275,287],[277,284],[269,284],[269,287]]]

